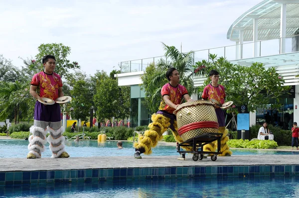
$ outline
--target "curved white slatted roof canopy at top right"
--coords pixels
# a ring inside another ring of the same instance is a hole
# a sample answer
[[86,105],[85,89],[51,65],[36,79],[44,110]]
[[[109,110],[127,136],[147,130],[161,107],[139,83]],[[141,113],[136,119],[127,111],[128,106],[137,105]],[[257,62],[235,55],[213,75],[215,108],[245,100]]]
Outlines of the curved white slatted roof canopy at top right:
[[295,35],[299,29],[299,0],[263,0],[243,13],[229,28],[227,39],[253,41],[254,19],[258,19],[258,40],[280,38],[281,5],[286,4],[286,37]]

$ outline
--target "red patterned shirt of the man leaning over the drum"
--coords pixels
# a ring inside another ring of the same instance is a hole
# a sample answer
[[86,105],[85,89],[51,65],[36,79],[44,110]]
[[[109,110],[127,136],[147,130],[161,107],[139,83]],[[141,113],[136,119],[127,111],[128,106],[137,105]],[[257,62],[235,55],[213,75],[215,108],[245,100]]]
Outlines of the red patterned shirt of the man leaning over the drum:
[[167,95],[169,96],[170,101],[172,103],[180,104],[185,94],[188,94],[188,91],[184,86],[178,84],[176,87],[172,87],[170,83],[165,84],[161,89],[162,99],[160,102],[159,110],[166,111],[168,113],[173,113],[175,109],[168,106],[168,104],[166,104],[166,102],[164,101],[163,97]]

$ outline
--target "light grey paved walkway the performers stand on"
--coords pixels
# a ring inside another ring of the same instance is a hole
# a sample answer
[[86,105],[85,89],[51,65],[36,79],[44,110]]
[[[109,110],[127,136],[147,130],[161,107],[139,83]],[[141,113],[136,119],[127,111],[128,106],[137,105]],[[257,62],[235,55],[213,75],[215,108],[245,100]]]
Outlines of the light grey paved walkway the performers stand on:
[[144,167],[183,167],[183,166],[243,166],[243,165],[299,165],[299,155],[235,155],[217,156],[216,161],[202,159],[194,162],[192,155],[186,160],[176,156],[144,156],[143,159],[132,157],[88,157],[88,158],[2,158],[1,171],[41,171],[100,168],[144,168]]

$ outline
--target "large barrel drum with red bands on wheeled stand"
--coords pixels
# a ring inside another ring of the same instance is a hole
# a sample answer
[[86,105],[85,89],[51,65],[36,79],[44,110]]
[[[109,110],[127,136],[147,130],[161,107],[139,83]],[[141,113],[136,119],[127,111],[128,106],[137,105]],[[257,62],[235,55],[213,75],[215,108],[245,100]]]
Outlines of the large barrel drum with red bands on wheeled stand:
[[212,102],[195,100],[178,105],[176,114],[178,134],[183,141],[205,133],[217,133],[219,124]]

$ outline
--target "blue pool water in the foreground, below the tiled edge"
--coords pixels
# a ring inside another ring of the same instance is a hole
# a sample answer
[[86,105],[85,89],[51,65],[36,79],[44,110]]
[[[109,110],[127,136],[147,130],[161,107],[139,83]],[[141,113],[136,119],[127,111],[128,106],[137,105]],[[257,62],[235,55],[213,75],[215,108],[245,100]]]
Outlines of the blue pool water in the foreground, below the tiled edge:
[[295,198],[299,177],[124,180],[2,186],[0,198]]

